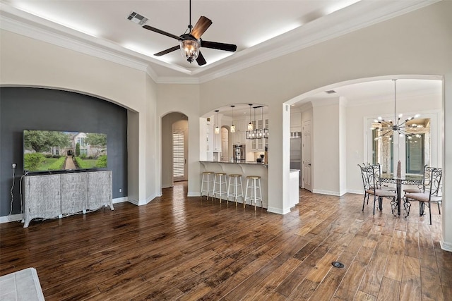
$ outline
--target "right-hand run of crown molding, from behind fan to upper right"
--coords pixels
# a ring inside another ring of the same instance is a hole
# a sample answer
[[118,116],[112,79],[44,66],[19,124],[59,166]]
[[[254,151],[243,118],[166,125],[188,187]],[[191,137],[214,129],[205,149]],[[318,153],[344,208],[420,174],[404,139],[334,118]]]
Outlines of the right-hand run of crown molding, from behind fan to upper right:
[[[200,82],[208,82],[258,65],[259,63],[265,63],[280,56],[291,54],[292,52],[325,42],[328,39],[333,39],[349,32],[401,16],[439,1],[441,0],[391,1],[385,3],[384,6],[379,1],[359,1],[352,6],[343,8],[340,11],[314,20],[311,23],[297,27],[283,35],[250,47],[249,49],[244,49],[234,54],[234,56],[218,61],[218,63],[227,63],[234,60],[236,63],[232,62],[227,68],[222,68],[218,72],[201,76]],[[268,51],[268,49],[272,50]],[[259,51],[263,53],[256,54]],[[252,57],[237,62],[238,58],[246,56]],[[215,64],[212,64],[207,68],[213,68],[214,66]],[[196,71],[194,74],[196,74]]]

